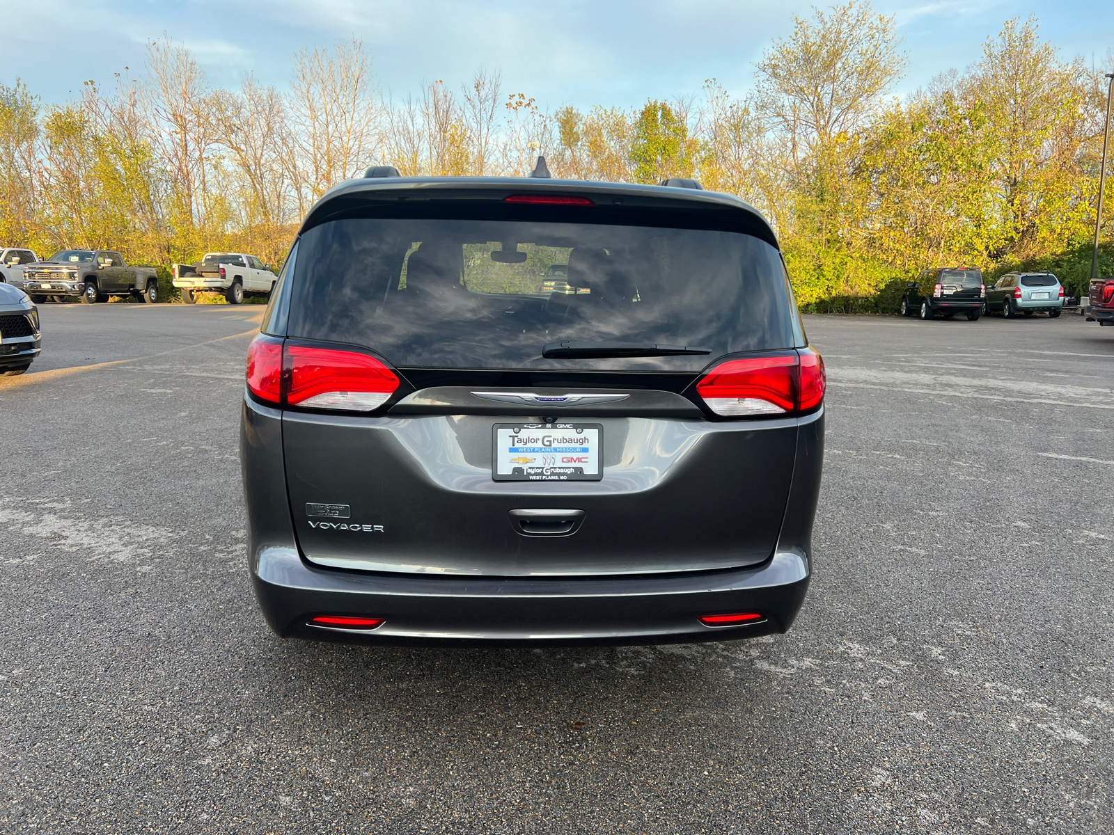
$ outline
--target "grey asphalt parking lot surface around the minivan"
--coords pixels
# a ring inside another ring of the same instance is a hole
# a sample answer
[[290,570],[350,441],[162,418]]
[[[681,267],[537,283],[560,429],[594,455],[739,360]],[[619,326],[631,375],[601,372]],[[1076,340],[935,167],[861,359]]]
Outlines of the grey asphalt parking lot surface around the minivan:
[[261,307],[43,305],[0,379],[0,831],[1114,828],[1114,328],[812,316],[784,636],[281,641],[245,571]]

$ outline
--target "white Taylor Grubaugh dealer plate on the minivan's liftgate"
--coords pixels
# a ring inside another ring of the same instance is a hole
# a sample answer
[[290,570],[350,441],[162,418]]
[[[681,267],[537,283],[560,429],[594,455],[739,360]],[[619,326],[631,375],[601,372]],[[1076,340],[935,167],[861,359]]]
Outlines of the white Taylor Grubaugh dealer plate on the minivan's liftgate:
[[494,428],[496,481],[599,481],[599,423],[499,423]]

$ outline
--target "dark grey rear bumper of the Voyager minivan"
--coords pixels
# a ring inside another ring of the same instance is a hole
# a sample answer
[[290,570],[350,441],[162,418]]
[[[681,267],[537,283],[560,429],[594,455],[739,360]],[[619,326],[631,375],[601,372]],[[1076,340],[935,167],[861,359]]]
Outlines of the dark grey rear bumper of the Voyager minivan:
[[[322,569],[296,550],[266,548],[255,596],[283,637],[417,646],[653,645],[784,632],[810,567],[780,552],[759,568],[654,577],[461,578]],[[759,612],[763,622],[706,627],[704,615]],[[317,615],[384,618],[371,631],[307,625]]]

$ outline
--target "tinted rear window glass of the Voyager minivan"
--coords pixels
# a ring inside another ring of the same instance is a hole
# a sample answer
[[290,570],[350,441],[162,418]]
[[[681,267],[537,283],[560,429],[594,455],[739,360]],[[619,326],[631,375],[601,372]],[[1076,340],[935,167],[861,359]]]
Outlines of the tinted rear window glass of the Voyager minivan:
[[[726,353],[793,347],[794,317],[778,250],[743,233],[352,218],[302,235],[287,333],[399,366],[696,371]],[[541,356],[565,340],[710,353]]]

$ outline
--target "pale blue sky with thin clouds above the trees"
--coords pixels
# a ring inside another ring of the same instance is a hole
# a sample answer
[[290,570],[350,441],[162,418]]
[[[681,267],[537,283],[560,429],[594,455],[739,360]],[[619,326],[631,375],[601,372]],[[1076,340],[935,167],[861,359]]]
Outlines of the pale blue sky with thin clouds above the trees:
[[[815,3],[824,8],[823,3]],[[81,82],[110,87],[115,72],[143,75],[148,41],[169,37],[194,52],[208,81],[238,87],[246,72],[284,88],[303,46],[356,37],[394,98],[437,79],[459,88],[478,66],[502,73],[505,94],[544,108],[635,107],[698,94],[716,78],[733,96],[753,85],[754,62],[792,33],[799,0],[0,0],[0,84],[21,78],[43,102]],[[1010,17],[1034,13],[1065,58],[1102,63],[1114,46],[1108,0],[879,1],[908,56],[895,90],[911,92],[977,61]],[[1114,68],[1106,68],[1114,71]]]

